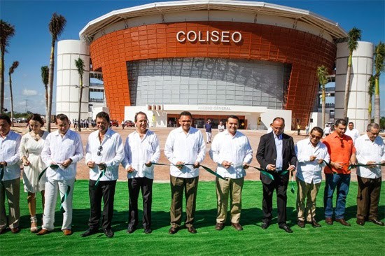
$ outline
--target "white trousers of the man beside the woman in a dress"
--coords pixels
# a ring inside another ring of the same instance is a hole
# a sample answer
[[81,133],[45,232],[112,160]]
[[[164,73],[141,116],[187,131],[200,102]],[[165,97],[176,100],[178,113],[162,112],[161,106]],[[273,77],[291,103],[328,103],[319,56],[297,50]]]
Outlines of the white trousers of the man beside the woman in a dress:
[[60,199],[64,197],[67,191],[67,186],[71,187],[71,190],[63,202],[63,208],[66,211],[63,213],[63,224],[62,230],[71,229],[72,223],[72,194],[73,194],[73,183],[75,179],[71,180],[50,180],[45,183],[45,204],[44,204],[44,215],[43,215],[43,229],[52,231],[54,229],[55,222],[55,207],[57,201],[57,191],[60,192]]

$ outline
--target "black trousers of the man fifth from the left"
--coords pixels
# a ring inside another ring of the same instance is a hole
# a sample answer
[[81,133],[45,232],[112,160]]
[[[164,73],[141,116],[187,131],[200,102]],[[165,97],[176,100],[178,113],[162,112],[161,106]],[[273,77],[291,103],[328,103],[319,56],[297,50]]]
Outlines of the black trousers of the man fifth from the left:
[[151,227],[151,204],[153,204],[153,179],[151,178],[129,178],[128,194],[128,225],[136,227],[139,222],[138,217],[138,197],[139,191],[143,197],[143,227]]

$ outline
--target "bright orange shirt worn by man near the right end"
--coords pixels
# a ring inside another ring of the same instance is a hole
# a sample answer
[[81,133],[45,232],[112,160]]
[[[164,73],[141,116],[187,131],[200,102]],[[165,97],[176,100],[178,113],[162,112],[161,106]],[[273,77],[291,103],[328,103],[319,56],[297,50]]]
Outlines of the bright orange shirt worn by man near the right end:
[[[353,153],[356,153],[356,148],[354,148],[351,137],[344,135],[342,138],[339,138],[334,131],[332,134],[323,138],[322,142],[328,147],[330,162],[338,162],[343,165],[342,169],[335,169],[334,166],[332,166],[332,170],[337,173],[349,174],[350,157]],[[328,166],[326,166],[323,171],[325,171],[325,173],[333,173]]]

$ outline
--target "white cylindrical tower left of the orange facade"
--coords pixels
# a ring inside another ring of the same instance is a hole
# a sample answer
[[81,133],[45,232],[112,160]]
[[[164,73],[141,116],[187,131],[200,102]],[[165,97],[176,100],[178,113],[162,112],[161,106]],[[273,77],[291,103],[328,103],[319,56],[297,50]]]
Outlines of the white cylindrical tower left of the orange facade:
[[56,76],[56,113],[64,113],[72,122],[78,119],[80,77],[75,60],[83,59],[83,95],[80,119],[88,118],[90,83],[90,48],[79,40],[62,40],[57,42],[57,76]]

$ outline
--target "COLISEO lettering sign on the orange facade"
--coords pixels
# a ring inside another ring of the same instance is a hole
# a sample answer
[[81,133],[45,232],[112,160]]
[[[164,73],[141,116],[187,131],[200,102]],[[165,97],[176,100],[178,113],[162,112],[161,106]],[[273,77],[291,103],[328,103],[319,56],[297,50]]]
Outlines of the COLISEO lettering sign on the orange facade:
[[220,42],[220,43],[239,43],[242,40],[242,34],[238,31],[179,31],[176,33],[176,40],[179,43],[189,41],[193,42]]

